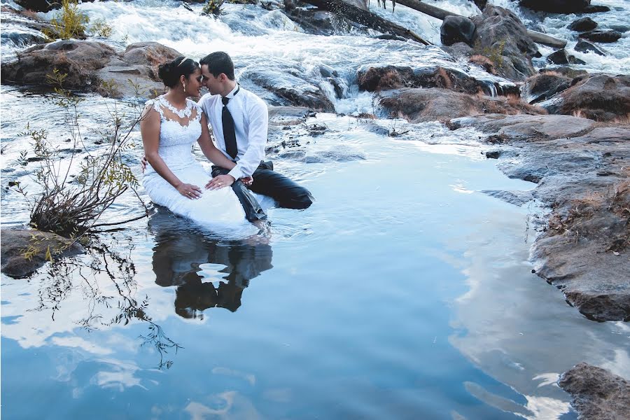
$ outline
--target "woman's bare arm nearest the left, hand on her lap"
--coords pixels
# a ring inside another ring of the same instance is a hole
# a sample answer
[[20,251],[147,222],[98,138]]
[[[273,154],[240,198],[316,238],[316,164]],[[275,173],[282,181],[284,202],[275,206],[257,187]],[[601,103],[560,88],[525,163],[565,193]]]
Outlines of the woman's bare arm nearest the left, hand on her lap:
[[160,116],[158,111],[155,111],[151,105],[145,106],[142,111],[140,134],[142,134],[144,155],[151,167],[155,169],[155,172],[158,172],[162,178],[184,197],[190,199],[199,198],[202,193],[201,188],[181,182],[158,154],[158,146],[160,146]]

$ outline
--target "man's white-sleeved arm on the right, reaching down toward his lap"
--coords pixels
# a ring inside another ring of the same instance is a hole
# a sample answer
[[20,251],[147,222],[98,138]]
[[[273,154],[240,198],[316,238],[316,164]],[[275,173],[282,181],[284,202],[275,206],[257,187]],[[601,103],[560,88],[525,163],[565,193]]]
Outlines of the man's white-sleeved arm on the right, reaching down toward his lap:
[[267,129],[269,126],[269,111],[262,99],[256,101],[245,110],[248,115],[248,145],[236,167],[230,171],[235,179],[251,176],[265,158],[267,146]]

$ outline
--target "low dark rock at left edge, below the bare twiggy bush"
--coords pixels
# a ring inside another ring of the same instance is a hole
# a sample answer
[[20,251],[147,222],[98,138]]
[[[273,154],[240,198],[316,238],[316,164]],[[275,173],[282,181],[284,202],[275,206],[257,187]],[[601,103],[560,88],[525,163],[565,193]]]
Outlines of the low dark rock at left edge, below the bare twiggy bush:
[[85,253],[70,239],[38,230],[3,229],[0,239],[2,272],[15,278],[28,276],[47,260]]

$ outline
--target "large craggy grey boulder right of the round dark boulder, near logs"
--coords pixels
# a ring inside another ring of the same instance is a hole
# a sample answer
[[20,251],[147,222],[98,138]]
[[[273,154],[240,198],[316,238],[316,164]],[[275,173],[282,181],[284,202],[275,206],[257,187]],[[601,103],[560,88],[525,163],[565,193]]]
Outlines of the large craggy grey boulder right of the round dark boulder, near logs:
[[498,6],[486,6],[472,22],[477,26],[475,54],[491,59],[498,75],[521,81],[535,73],[531,57],[540,53],[517,15]]

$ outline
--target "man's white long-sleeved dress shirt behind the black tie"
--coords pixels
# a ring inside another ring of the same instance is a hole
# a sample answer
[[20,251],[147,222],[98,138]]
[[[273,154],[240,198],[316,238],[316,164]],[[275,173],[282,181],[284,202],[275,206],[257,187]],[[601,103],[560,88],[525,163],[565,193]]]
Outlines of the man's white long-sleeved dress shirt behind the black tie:
[[[235,95],[235,92],[237,91]],[[237,165],[229,172],[234,179],[251,176],[265,158],[265,146],[267,145],[267,127],[269,124],[269,111],[267,104],[252,92],[236,87],[225,97],[230,98],[228,110],[234,119],[234,130],[237,138]],[[228,158],[225,151],[225,139],[223,138],[223,123],[221,111],[223,102],[220,94],[204,94],[199,105],[208,117],[216,146]]]

